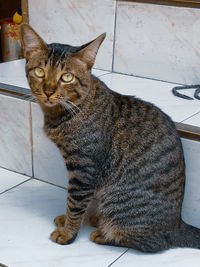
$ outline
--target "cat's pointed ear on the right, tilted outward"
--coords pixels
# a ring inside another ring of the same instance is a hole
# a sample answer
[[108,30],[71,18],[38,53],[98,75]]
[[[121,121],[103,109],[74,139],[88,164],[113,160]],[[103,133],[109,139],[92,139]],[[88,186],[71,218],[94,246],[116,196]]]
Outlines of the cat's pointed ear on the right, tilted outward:
[[84,45],[83,48],[76,53],[76,55],[87,64],[88,68],[92,68],[99,47],[106,37],[106,33],[101,34],[95,40]]

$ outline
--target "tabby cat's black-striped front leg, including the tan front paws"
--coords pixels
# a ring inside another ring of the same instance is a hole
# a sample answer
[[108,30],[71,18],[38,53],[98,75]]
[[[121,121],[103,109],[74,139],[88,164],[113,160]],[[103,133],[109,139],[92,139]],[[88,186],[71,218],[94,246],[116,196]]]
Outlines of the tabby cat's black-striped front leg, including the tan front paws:
[[[71,176],[71,175],[70,175]],[[67,198],[67,214],[55,218],[58,228],[51,234],[51,239],[59,244],[70,244],[80,229],[85,211],[93,198],[94,189],[88,178],[70,177]]]

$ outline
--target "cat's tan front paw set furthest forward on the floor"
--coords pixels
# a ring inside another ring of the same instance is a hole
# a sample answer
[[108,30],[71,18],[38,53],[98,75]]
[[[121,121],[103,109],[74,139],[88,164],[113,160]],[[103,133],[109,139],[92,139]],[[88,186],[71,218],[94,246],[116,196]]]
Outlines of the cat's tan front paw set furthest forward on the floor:
[[63,227],[58,227],[52,234],[51,239],[61,245],[67,245],[74,241],[77,234],[66,232]]

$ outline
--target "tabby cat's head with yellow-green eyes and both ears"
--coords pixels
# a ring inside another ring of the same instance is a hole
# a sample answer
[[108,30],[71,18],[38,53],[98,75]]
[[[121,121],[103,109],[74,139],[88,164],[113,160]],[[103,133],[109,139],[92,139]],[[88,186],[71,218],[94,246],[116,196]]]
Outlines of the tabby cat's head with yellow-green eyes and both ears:
[[21,25],[26,73],[37,101],[47,107],[79,104],[90,93],[91,68],[105,33],[80,47],[46,44],[28,25]]

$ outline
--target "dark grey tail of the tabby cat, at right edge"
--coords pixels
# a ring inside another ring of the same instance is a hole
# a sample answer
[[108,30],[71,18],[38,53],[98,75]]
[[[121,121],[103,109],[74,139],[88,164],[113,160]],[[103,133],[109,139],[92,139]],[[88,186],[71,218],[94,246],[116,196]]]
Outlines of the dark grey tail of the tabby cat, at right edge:
[[171,247],[188,247],[200,249],[200,229],[182,221],[181,227],[167,236]]

